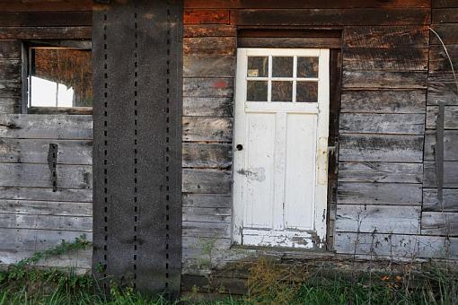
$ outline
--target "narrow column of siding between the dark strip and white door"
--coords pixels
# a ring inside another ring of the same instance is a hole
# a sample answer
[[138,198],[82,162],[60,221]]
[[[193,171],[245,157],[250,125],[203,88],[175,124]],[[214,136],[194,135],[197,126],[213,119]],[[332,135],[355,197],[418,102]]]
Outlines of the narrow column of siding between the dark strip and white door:
[[[236,28],[226,9],[186,10],[183,83],[183,272],[231,245]],[[211,259],[210,259],[211,260]],[[211,265],[211,264],[210,264]]]

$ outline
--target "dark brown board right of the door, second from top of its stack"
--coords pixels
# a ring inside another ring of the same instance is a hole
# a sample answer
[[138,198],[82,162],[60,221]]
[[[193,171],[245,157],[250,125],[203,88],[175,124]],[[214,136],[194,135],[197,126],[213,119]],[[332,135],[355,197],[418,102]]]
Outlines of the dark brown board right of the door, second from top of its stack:
[[344,70],[426,71],[427,48],[344,48]]

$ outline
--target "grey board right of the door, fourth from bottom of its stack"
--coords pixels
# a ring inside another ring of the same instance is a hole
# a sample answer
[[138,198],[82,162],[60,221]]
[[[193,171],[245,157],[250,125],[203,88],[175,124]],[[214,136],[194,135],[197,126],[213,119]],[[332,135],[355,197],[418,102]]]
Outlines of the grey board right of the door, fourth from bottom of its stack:
[[339,181],[422,183],[421,163],[340,162]]

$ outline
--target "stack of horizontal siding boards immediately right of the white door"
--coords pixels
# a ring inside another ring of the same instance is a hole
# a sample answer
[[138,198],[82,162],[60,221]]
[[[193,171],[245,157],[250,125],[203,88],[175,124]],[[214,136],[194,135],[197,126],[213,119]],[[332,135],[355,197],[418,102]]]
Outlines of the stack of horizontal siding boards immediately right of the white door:
[[406,24],[344,29],[334,240],[341,254],[418,254],[429,33]]

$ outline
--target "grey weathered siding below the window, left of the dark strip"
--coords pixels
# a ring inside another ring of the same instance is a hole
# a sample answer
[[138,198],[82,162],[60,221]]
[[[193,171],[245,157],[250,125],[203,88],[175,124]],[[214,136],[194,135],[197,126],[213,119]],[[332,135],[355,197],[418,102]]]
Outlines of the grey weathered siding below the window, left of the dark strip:
[[[57,188],[49,170],[57,144]],[[92,118],[0,115],[0,261],[11,264],[62,240],[92,240]],[[40,262],[91,267],[92,249]]]

